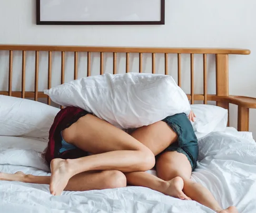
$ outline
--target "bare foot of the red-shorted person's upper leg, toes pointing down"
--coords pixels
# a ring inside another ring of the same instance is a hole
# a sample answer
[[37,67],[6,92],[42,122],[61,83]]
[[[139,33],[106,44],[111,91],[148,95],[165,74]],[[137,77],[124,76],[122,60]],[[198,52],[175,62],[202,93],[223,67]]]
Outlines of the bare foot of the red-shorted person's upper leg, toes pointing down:
[[51,161],[51,171],[50,192],[52,195],[61,195],[68,180],[73,176],[71,168],[67,160],[56,158]]

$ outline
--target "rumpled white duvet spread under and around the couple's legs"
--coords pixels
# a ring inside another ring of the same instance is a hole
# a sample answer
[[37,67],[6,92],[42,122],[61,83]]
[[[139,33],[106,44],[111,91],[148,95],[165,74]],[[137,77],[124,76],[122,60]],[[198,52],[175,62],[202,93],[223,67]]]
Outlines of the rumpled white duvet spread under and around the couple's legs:
[[[0,137],[0,171],[50,175],[41,156],[46,144]],[[192,179],[210,189],[222,207],[256,212],[256,144],[250,133],[229,129],[199,140],[199,163]],[[169,212],[214,213],[195,201],[182,201],[143,187],[66,191],[50,195],[47,185],[0,181],[0,212]]]

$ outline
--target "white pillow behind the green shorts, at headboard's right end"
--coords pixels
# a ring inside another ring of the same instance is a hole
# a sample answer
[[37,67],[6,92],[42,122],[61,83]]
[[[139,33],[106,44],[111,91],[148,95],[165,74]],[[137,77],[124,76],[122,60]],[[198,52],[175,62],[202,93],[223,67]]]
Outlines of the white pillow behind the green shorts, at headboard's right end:
[[228,123],[228,110],[214,105],[195,104],[191,110],[196,115],[195,122],[191,122],[195,133],[200,137],[212,131],[224,131]]

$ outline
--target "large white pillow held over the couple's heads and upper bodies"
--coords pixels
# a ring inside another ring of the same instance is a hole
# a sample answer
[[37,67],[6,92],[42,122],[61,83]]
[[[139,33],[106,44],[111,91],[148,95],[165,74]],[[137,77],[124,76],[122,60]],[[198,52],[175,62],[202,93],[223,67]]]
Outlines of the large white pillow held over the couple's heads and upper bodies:
[[80,107],[123,129],[190,112],[188,97],[167,75],[104,74],[73,80],[44,93],[57,104]]

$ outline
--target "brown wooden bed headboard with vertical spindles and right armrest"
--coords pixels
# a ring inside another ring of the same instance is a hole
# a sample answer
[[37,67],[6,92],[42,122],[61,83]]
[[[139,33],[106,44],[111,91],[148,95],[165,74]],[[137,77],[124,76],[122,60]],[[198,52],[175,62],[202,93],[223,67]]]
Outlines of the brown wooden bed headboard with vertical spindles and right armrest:
[[[152,54],[152,73],[155,73],[155,54],[164,54],[165,75],[168,75],[168,54],[178,55],[178,85],[181,86],[181,54],[190,54],[191,69],[191,93],[188,98],[191,104],[195,100],[203,100],[207,104],[209,100],[216,101],[216,105],[229,109],[229,104],[238,105],[238,130],[249,130],[249,109],[256,108],[256,98],[229,95],[229,54],[249,55],[248,49],[225,48],[152,48],[152,47],[89,47],[89,46],[44,46],[44,45],[0,45],[1,50],[9,51],[9,81],[8,91],[0,91],[0,95],[8,95],[22,98],[47,98],[47,104],[51,104],[50,97],[38,91],[39,54],[48,52],[48,89],[52,84],[52,52],[61,52],[61,84],[64,83],[65,52],[74,52],[74,79],[77,79],[78,54],[87,52],[87,76],[91,75],[91,53],[100,53],[100,74],[103,74],[104,53],[113,53],[113,74],[117,73],[116,55],[126,53],[126,73],[130,71],[130,53],[137,53],[139,57],[139,72],[142,73],[143,53]],[[13,76],[13,51],[22,51],[22,90],[12,91]],[[34,91],[25,91],[26,52],[35,52],[35,88]],[[203,94],[194,94],[194,54],[203,56]],[[214,54],[216,58],[216,94],[208,94],[206,54]]]

